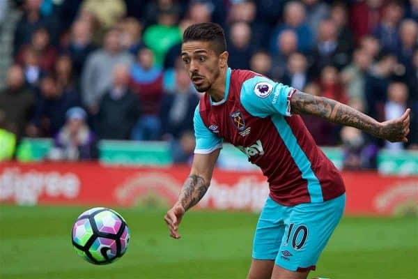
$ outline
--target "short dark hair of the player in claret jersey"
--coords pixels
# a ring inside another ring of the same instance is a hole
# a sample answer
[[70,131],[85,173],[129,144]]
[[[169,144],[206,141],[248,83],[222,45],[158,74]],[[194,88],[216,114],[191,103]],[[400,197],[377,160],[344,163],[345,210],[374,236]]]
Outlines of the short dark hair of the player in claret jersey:
[[226,51],[224,29],[216,23],[205,22],[190,25],[183,33],[183,43],[190,40],[203,40],[212,43],[212,48],[217,54]]

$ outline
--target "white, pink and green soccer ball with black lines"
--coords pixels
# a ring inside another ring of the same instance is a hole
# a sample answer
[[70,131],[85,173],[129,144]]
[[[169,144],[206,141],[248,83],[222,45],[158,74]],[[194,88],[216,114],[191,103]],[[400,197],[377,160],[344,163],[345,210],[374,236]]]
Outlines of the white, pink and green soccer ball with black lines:
[[72,246],[80,257],[92,264],[110,264],[122,257],[129,239],[125,219],[104,207],[84,211],[72,227]]

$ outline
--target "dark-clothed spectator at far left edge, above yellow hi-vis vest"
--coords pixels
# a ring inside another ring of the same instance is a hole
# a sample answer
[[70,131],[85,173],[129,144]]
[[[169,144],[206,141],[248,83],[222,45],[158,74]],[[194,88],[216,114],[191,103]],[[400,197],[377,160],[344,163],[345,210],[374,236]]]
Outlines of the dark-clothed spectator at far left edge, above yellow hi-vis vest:
[[3,128],[17,135],[17,140],[24,135],[35,107],[35,96],[25,86],[24,73],[20,66],[8,69],[6,89],[0,92],[0,112],[3,115]]

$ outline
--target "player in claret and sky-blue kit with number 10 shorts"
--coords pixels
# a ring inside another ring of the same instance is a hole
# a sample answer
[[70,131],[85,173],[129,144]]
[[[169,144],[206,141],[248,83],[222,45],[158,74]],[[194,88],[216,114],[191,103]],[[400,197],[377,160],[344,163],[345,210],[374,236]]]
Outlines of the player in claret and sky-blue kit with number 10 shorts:
[[170,235],[180,239],[178,225],[208,190],[225,140],[261,167],[270,187],[256,226],[248,278],[307,278],[339,223],[346,195],[341,175],[298,114],[407,142],[410,110],[380,123],[335,100],[311,96],[249,70],[231,70],[224,31],[213,23],[185,30],[181,56],[195,88],[205,94],[194,114],[191,172],[178,201],[164,216]]

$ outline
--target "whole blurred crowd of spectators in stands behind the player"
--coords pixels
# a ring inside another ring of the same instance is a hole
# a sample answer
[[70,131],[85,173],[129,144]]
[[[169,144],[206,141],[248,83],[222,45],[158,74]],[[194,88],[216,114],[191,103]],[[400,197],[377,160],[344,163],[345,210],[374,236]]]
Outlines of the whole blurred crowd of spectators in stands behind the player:
[[224,27],[231,68],[378,121],[412,109],[407,144],[304,116],[320,146],[343,146],[346,168],[375,167],[382,148],[418,149],[417,0],[20,0],[8,9],[21,17],[0,128],[17,142],[54,137],[50,158],[95,158],[102,139],[164,140],[175,162],[187,162],[199,93],[179,54],[183,31],[198,22]]

